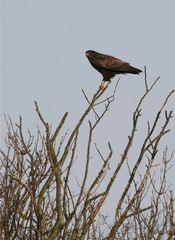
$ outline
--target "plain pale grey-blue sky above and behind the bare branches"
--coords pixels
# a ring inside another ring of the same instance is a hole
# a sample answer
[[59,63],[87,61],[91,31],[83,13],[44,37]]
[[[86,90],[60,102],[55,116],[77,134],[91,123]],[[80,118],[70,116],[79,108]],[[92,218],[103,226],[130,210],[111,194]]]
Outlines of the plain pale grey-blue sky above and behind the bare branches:
[[[88,96],[98,89],[101,75],[84,52],[93,49],[128,61],[143,70],[151,84],[160,81],[144,104],[146,121],[153,120],[167,94],[175,88],[174,0],[2,0],[1,120],[23,117],[24,127],[39,123],[37,100],[43,115],[56,126],[69,111],[66,127],[73,127],[83,113]],[[117,79],[117,78],[115,78]],[[114,80],[115,81],[115,80]],[[112,93],[114,82],[107,90]],[[143,74],[121,77],[117,101],[105,116],[96,139],[100,147],[111,141],[122,153],[131,129],[132,112],[144,92]],[[174,109],[175,99],[169,103]],[[174,124],[171,125],[175,130]],[[174,147],[174,132],[163,146]],[[141,136],[142,137],[142,136]],[[2,139],[3,137],[1,137]]]

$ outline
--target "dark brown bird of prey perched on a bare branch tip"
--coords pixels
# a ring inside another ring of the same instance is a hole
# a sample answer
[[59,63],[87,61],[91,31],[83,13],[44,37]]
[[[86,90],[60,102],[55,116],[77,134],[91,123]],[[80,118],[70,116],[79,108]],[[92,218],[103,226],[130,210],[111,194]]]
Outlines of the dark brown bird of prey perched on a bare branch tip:
[[129,63],[110,55],[98,53],[93,50],[88,50],[85,54],[90,64],[103,75],[100,85],[101,90],[106,87],[106,83],[107,85],[110,83],[111,78],[116,74],[139,74],[142,72],[140,69],[132,67]]

